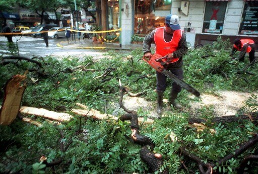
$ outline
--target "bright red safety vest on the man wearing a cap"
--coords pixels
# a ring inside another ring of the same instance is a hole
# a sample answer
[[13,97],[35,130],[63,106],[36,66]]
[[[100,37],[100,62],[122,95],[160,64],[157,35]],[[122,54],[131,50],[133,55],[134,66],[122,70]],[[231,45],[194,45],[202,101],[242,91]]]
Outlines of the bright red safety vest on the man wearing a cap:
[[[172,53],[177,50],[179,40],[182,37],[182,30],[175,30],[171,41],[166,42],[164,38],[165,27],[157,28],[154,33],[154,41],[156,45],[155,54],[159,54],[162,57],[168,53]],[[173,58],[170,63],[178,61],[179,58]]]

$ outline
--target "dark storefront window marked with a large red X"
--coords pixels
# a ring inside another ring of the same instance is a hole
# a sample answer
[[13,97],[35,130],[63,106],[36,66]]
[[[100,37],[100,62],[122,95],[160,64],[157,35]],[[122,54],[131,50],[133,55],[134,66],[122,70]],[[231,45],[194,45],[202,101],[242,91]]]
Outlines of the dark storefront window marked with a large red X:
[[222,33],[227,2],[206,2],[203,33]]

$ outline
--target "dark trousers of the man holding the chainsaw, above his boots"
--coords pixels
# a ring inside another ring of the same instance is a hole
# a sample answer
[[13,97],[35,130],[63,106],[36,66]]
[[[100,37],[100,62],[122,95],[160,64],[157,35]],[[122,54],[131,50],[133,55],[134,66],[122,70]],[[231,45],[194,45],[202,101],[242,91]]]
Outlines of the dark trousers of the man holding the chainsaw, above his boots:
[[[178,78],[183,79],[183,69],[182,68],[170,68],[168,69],[170,72],[175,74]],[[156,71],[157,77],[157,92],[164,92],[167,86],[167,76]],[[181,91],[181,86],[176,84],[176,82],[172,83],[172,90],[171,92],[174,94],[178,94]]]

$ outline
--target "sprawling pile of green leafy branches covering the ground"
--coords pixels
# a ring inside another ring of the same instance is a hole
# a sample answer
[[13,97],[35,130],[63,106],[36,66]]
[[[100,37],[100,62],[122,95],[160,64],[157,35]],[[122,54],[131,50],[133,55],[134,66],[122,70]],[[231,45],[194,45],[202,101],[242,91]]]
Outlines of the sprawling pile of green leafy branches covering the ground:
[[[206,45],[188,51],[184,56],[184,80],[201,94],[216,94],[220,90],[257,90],[257,63],[246,66],[247,59],[244,63],[231,60],[227,50],[215,49],[220,42],[214,47]],[[53,57],[39,58],[37,61],[41,62],[42,68],[24,60],[7,65],[0,63],[1,102],[7,79],[28,69],[22,105],[69,112],[79,102],[102,113],[116,113],[119,117],[124,111],[114,112],[119,100],[118,79],[131,92],[144,93],[142,97],[150,102],[156,100],[153,91],[155,71],[141,61],[141,57],[141,50],[125,53],[110,51],[106,58],[97,62],[86,56],[84,60],[66,57],[61,61]],[[141,76],[143,78],[139,78]],[[179,98],[186,99],[188,95],[182,91]],[[185,111],[167,111],[165,117],[155,120],[152,125],[140,125],[141,134],[155,143],[154,153],[162,154],[164,162],[157,173],[165,169],[169,173],[199,172],[196,163],[180,153],[182,147],[203,162],[213,162],[213,169],[223,173],[236,172],[245,156],[257,156],[257,146],[254,145],[237,157],[216,163],[257,136],[257,123],[248,120],[241,123],[212,123],[210,120],[216,117],[213,108],[203,107],[198,117],[207,120],[208,128],[197,132],[196,128],[188,127],[192,114],[187,112],[189,100],[182,101]],[[253,95],[239,114],[258,112],[257,103],[257,96]],[[147,118],[150,111],[140,109],[137,113]],[[95,121],[89,117],[75,116],[70,122],[53,124],[35,116],[31,118],[42,122],[43,126],[36,127],[19,119],[10,126],[0,126],[0,172],[148,172],[148,166],[140,158],[141,146],[128,138],[132,132],[127,122]],[[211,133],[210,129],[216,133]],[[45,160],[40,162],[40,158]],[[256,173],[257,164],[257,160],[249,160],[243,169]]]

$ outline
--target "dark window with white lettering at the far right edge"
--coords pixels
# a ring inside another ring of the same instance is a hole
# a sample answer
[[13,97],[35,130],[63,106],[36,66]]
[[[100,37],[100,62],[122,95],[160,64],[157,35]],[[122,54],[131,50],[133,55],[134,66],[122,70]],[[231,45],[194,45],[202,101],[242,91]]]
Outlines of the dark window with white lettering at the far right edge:
[[258,2],[245,2],[239,34],[258,35]]

